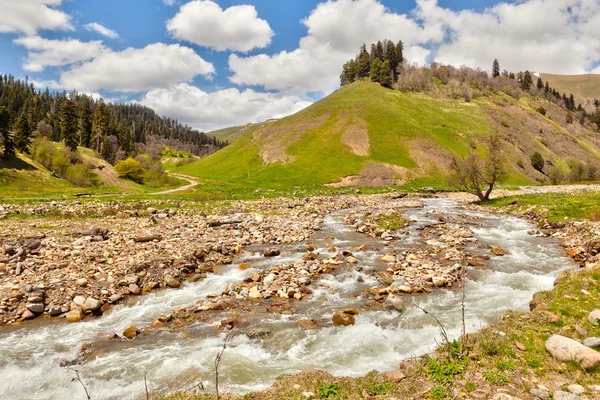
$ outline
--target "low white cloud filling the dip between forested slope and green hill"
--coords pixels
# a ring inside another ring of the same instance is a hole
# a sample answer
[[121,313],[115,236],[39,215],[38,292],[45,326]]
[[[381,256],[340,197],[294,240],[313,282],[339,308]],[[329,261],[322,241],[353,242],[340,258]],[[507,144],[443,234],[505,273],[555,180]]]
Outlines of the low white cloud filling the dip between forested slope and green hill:
[[160,115],[168,115],[196,129],[211,131],[268,118],[280,118],[311,103],[296,96],[240,92],[230,88],[206,93],[186,83],[148,92],[140,101]]

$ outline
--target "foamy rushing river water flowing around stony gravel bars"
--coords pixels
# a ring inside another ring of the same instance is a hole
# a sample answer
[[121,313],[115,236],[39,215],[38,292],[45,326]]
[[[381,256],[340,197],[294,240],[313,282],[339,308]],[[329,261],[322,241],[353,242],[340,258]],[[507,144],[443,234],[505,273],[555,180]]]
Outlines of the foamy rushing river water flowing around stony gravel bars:
[[[418,229],[436,222],[431,212],[479,217],[480,226],[472,228],[477,246],[500,246],[504,257],[492,257],[489,268],[469,269],[465,286],[466,325],[472,332],[494,320],[506,310],[524,310],[535,292],[552,287],[554,278],[573,264],[557,244],[548,238],[529,235],[534,229],[527,221],[511,216],[466,211],[448,200],[425,200],[426,205],[412,209],[407,236],[398,241],[419,245]],[[403,314],[392,311],[363,311],[356,324],[348,327],[323,327],[304,330],[299,319],[327,319],[347,306],[361,309],[359,293],[376,281],[369,271],[385,268],[379,258],[396,244],[366,238],[346,226],[343,213],[328,216],[323,230],[315,236],[319,252],[327,248],[353,251],[362,268],[344,267],[333,275],[314,279],[314,293],[302,300],[291,315],[261,314],[250,324],[269,329],[271,335],[250,339],[234,335],[223,356],[222,390],[247,392],[269,386],[282,373],[322,369],[337,375],[358,376],[373,369],[393,370],[402,360],[433,350],[440,339],[437,325],[420,309],[409,306]],[[356,247],[367,244],[367,251]],[[61,363],[77,357],[81,344],[122,332],[129,325],[148,326],[153,318],[178,306],[189,306],[210,294],[220,294],[230,283],[239,283],[275,263],[293,262],[301,253],[297,245],[286,246],[282,257],[264,259],[245,253],[240,260],[253,268],[240,271],[232,265],[220,274],[189,283],[180,290],[165,290],[143,296],[134,305],[120,305],[105,316],[77,324],[47,324],[0,331],[1,399],[76,399],[85,398],[74,372]],[[332,254],[333,255],[333,254]],[[362,279],[358,279],[358,278]],[[412,301],[438,316],[452,337],[461,329],[461,294],[448,289],[417,295]],[[213,379],[213,361],[224,334],[214,326],[196,323],[182,332],[165,331],[140,336],[131,341],[111,342],[104,354],[77,365],[77,370],[96,399],[138,399],[144,393],[147,373],[151,391],[186,389],[197,382],[207,387]]]

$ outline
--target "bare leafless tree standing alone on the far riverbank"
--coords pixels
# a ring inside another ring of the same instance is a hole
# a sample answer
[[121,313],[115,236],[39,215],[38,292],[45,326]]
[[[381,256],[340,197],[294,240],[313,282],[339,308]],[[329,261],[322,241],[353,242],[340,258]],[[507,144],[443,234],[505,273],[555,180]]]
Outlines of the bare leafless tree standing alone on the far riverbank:
[[490,199],[494,186],[506,177],[502,141],[496,133],[490,136],[485,156],[470,152],[465,158],[455,157],[450,164],[451,184],[473,193],[480,201]]

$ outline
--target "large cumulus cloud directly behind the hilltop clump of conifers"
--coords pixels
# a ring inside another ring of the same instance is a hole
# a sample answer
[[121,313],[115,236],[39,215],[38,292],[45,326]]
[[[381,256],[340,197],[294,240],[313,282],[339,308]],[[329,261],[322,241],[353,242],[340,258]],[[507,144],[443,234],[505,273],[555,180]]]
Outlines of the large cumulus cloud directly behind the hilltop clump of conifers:
[[422,64],[429,55],[422,45],[444,36],[439,26],[423,26],[405,14],[388,10],[377,0],[327,1],[302,23],[308,35],[293,51],[251,57],[231,55],[230,80],[296,94],[329,93],[338,86],[342,65],[356,55],[362,43],[402,40],[410,61]]

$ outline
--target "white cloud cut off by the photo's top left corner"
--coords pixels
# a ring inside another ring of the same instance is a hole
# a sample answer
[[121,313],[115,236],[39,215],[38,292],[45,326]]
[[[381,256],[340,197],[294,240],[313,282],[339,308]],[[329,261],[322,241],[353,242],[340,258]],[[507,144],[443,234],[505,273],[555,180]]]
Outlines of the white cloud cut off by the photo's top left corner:
[[62,0],[0,0],[0,32],[35,35],[40,29],[72,30],[70,17],[57,9]]

